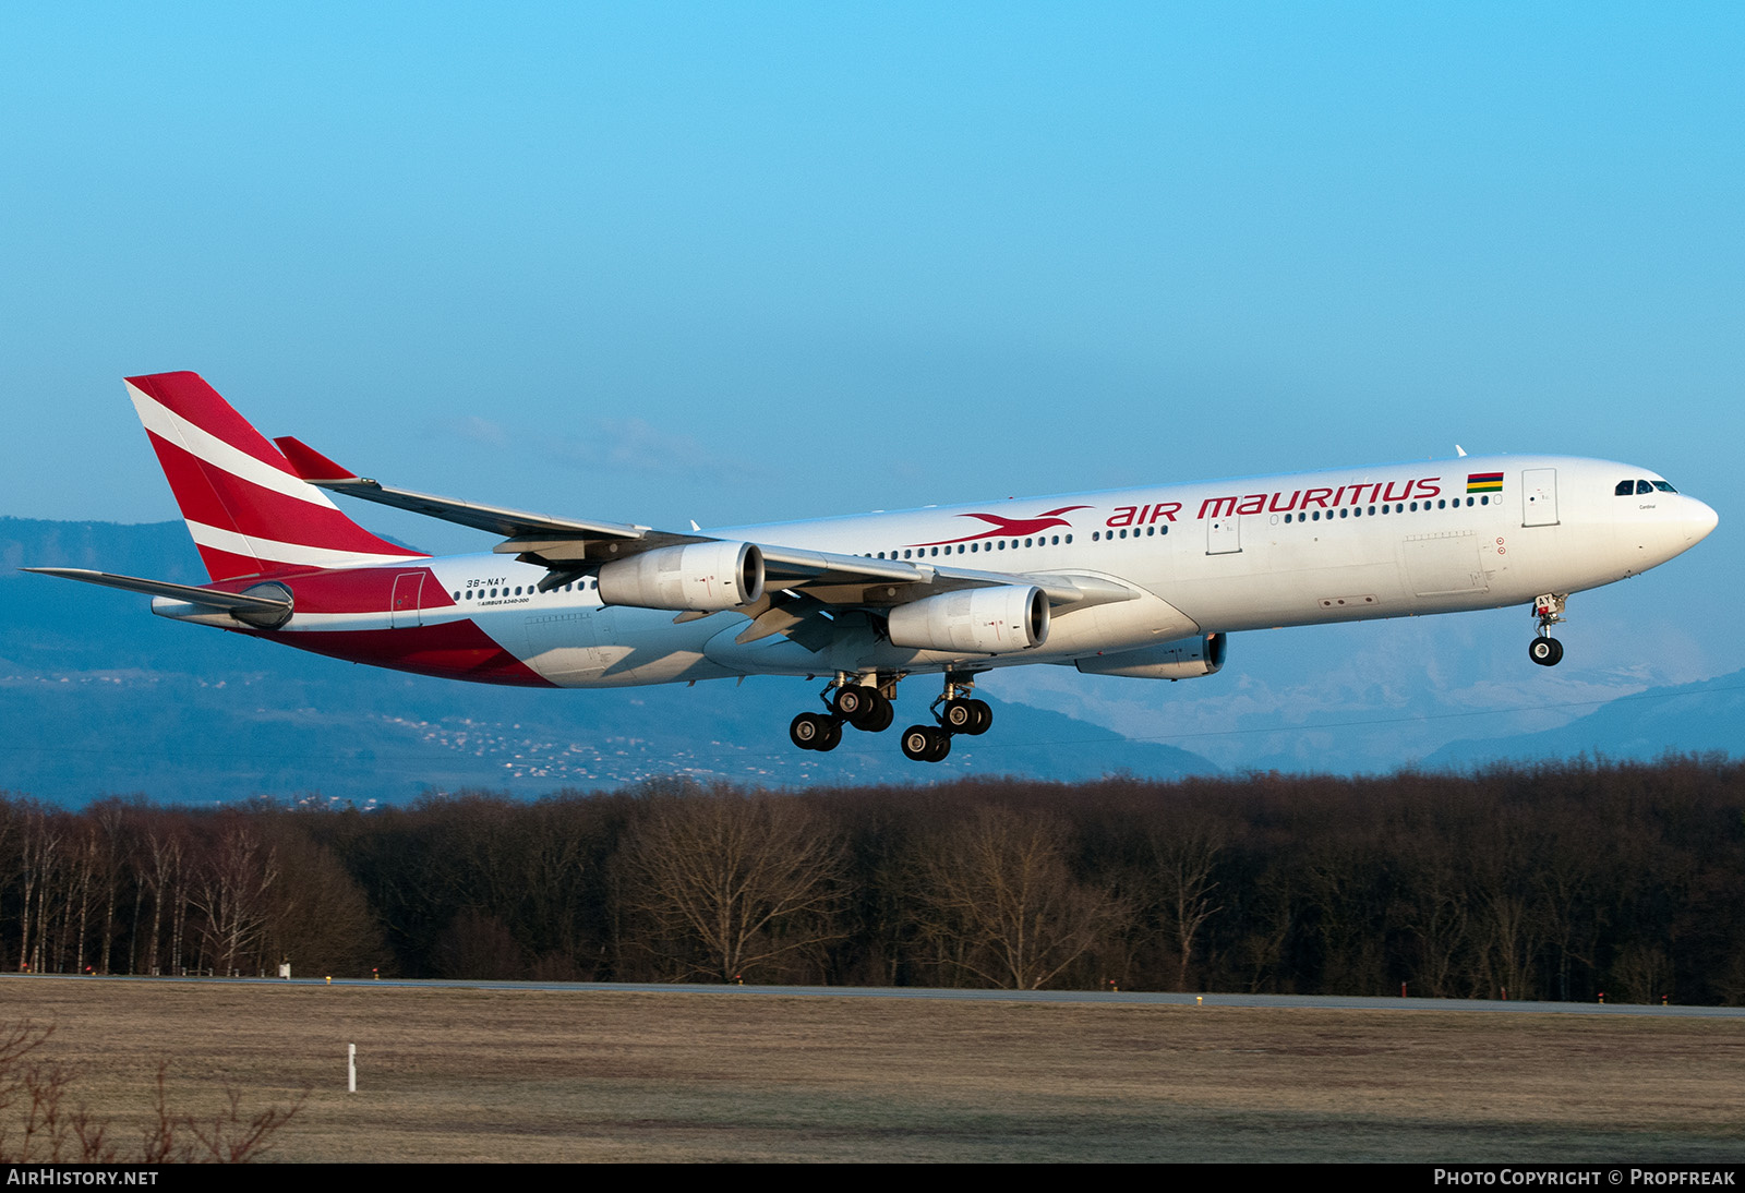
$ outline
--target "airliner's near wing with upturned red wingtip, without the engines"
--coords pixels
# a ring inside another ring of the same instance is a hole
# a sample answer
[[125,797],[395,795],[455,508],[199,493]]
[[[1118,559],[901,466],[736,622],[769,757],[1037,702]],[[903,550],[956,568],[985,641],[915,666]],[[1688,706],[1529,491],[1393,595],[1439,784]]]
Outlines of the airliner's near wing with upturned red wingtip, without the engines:
[[[501,534],[503,542],[494,551],[515,555],[524,563],[539,563],[550,570],[539,584],[543,590],[567,584],[600,563],[630,558],[654,548],[717,541],[700,532],[684,534],[619,522],[551,518],[391,488],[340,467],[290,436],[274,440],[274,443],[311,485]],[[960,588],[1035,584],[1047,595],[1054,609],[1103,605],[1139,596],[1138,590],[1101,576],[982,572],[764,542],[752,546],[763,555],[766,584],[766,595],[742,610],[754,619],[754,626],[747,630],[752,638],[766,633],[789,633],[813,614],[827,609],[888,609]],[[707,614],[682,612],[679,619],[701,616]],[[803,635],[796,630],[789,637],[799,640]]]

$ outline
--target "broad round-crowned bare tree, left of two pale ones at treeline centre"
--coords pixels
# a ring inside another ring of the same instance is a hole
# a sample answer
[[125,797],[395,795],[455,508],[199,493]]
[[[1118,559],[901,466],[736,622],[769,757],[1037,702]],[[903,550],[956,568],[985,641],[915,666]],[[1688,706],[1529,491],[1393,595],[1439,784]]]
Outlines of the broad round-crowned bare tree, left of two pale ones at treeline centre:
[[836,935],[841,842],[792,797],[653,797],[625,867],[654,947],[722,982]]

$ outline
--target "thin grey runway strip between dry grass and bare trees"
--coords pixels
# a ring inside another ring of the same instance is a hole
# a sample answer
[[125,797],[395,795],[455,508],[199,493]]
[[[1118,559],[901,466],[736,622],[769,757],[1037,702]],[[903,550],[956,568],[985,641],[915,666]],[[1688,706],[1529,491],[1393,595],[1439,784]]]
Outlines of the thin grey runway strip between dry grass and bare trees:
[[1159,991],[988,991],[913,985],[710,985],[663,982],[485,982],[448,978],[208,978],[84,977],[77,973],[7,973],[0,980],[37,982],[188,982],[229,985],[375,985],[394,989],[550,991],[595,994],[721,994],[738,998],[934,998],[1003,1003],[1115,1003],[1131,1006],[1256,1006],[1300,1010],[1516,1012],[1537,1015],[1659,1015],[1673,1019],[1745,1019],[1745,1006],[1649,1006],[1640,1003],[1543,1003],[1485,998],[1351,998],[1342,994],[1169,994]]

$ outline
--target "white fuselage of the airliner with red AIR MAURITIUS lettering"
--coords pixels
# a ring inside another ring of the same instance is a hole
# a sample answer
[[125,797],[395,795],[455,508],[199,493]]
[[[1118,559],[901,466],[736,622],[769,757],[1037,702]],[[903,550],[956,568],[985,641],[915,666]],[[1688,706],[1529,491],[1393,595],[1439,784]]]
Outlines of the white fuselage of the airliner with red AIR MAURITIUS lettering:
[[276,637],[312,645],[302,635],[471,621],[564,687],[984,670],[1106,658],[1188,635],[1527,603],[1665,563],[1715,522],[1708,506],[1642,467],[1462,457],[710,532],[1134,590],[1131,600],[1066,609],[1042,645],[1003,654],[897,647],[857,614],[839,617],[839,631],[817,649],[780,633],[742,644],[738,612],[606,607],[586,579],[539,593],[548,570],[504,555],[422,560],[445,590],[441,607],[426,598],[393,612],[298,616]]

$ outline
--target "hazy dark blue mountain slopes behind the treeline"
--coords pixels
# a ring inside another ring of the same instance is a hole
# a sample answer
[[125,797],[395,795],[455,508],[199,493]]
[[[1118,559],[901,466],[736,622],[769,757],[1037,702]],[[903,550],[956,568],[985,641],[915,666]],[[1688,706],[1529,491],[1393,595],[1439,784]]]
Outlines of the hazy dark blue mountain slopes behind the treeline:
[[[539,795],[674,773],[789,787],[925,783],[965,773],[1082,780],[1218,771],[1197,753],[1000,701],[986,689],[995,729],[958,738],[939,767],[906,760],[892,733],[848,731],[834,753],[806,753],[789,745],[787,722],[818,706],[820,682],[597,692],[454,684],[169,623],[150,616],[138,596],[16,572],[101,567],[201,583],[199,558],[176,522],[3,518],[0,563],[0,788],[52,802],[106,794],[400,802],[424,790]],[[921,720],[934,694],[925,677],[906,682],[897,726]],[[1742,743],[1745,673],[1651,689],[1558,729],[1454,741],[1422,762],[1468,767],[1581,752],[1658,757],[1738,752]]]

